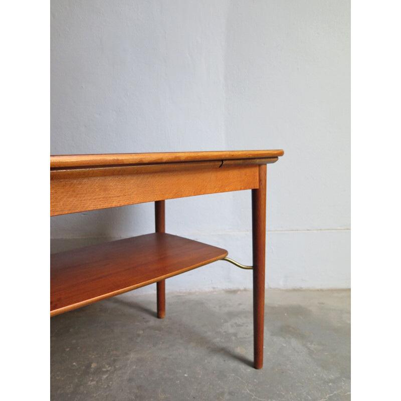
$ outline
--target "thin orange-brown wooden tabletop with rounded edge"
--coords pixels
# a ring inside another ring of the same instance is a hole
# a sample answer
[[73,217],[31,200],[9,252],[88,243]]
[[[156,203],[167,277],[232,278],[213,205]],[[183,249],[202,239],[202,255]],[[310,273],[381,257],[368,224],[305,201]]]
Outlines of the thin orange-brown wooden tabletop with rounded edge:
[[183,161],[210,161],[235,159],[262,159],[282,156],[284,150],[229,150],[212,152],[164,152],[164,153],[110,153],[73,154],[50,156],[50,168],[110,166],[121,164],[172,163]]

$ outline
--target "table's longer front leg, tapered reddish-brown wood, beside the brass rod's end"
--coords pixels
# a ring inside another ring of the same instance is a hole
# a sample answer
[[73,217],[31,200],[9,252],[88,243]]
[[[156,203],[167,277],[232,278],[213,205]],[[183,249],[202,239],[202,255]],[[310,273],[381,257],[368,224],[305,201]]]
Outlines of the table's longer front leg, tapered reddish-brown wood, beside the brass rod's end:
[[252,189],[254,367],[263,366],[265,314],[266,164],[259,165],[259,188]]

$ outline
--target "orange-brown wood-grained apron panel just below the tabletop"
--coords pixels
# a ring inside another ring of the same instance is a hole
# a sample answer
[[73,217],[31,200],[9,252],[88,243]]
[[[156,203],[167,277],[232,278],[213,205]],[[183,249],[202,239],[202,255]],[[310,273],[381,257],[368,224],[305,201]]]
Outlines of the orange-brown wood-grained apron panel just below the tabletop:
[[77,178],[60,173],[50,181],[51,216],[258,187],[257,164],[95,176],[88,169]]

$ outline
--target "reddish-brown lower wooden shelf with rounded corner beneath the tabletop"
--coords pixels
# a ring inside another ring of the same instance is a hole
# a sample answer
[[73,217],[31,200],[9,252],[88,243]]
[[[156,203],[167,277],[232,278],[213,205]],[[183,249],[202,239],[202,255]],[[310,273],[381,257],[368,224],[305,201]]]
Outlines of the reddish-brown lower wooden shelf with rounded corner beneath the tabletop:
[[224,249],[164,233],[53,254],[50,258],[50,316],[226,256]]

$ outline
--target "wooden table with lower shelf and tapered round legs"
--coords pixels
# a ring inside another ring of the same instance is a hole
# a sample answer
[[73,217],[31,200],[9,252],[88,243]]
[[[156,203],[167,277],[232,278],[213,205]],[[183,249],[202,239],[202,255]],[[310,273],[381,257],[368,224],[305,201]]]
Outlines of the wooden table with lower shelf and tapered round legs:
[[[50,215],[155,203],[155,233],[51,255],[50,316],[157,283],[165,315],[165,279],[227,260],[253,270],[254,366],[263,365],[266,164],[283,150],[50,156]],[[221,248],[165,233],[164,200],[252,189],[253,266]]]

